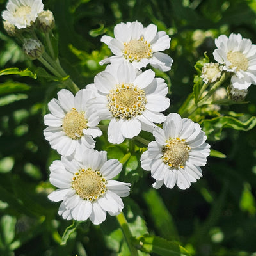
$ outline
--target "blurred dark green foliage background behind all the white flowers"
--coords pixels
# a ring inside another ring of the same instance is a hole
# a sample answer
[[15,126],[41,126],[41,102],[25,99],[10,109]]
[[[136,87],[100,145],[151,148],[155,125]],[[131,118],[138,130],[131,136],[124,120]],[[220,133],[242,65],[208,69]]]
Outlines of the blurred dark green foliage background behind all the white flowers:
[[[56,20],[60,62],[79,88],[93,83],[104,70],[98,63],[110,56],[100,42],[113,35],[118,22],[138,20],[157,25],[171,36],[168,53],[172,70],[157,76],[170,87],[171,106],[177,112],[193,90],[193,67],[207,52],[213,60],[214,38],[241,33],[256,44],[255,0],[45,0]],[[0,10],[6,1],[0,0]],[[17,41],[0,28],[0,69],[29,68],[40,74],[40,63],[28,60]],[[85,256],[129,255],[115,217],[100,226],[81,223],[70,229],[68,241],[61,236],[72,221],[58,216],[58,203],[47,195],[55,188],[49,183],[49,165],[60,156],[45,141],[43,115],[47,103],[60,90],[47,77],[0,76],[0,255]],[[235,104],[223,111],[256,115],[256,86],[249,88],[247,104]],[[136,237],[146,232],[177,240],[191,255],[256,255],[256,135],[223,129],[208,143],[227,157],[208,157],[203,177],[191,188],[152,189],[150,173],[140,168],[140,149],[134,147],[124,166],[123,181],[132,180],[131,196],[124,198],[125,215]],[[109,145],[97,140],[98,150],[109,157],[122,158],[125,145]],[[74,232],[72,232],[74,231]],[[67,242],[67,243],[66,243]],[[147,255],[141,253],[141,255]],[[152,254],[155,255],[155,254]]]

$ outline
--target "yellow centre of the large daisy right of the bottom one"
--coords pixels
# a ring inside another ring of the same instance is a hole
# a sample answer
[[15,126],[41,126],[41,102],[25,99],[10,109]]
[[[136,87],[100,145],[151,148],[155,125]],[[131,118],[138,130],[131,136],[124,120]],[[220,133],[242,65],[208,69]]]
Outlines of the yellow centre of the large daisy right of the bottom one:
[[190,149],[184,139],[170,138],[163,148],[163,162],[172,168],[184,168]]

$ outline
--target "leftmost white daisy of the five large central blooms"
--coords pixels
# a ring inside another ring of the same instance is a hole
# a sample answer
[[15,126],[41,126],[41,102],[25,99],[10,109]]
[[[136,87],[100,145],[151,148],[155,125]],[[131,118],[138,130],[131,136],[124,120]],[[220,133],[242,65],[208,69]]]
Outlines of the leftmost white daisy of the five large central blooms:
[[44,123],[48,127],[44,136],[62,156],[74,154],[81,161],[83,148],[94,148],[93,138],[101,136],[98,127],[99,116],[95,109],[86,107],[92,93],[79,90],[74,96],[66,89],[58,92],[58,100],[52,99],[48,104],[50,114],[44,116]]

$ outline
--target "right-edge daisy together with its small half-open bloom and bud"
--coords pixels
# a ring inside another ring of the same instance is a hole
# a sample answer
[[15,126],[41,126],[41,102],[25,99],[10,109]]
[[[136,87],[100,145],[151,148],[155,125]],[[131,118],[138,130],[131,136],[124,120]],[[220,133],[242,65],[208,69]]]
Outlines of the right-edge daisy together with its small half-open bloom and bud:
[[[256,45],[240,34],[221,35],[215,40],[213,52],[216,63],[205,63],[201,77],[204,83],[218,81],[222,74],[230,74],[228,97],[233,101],[244,100],[247,89],[256,84]],[[236,96],[234,95],[236,92]]]

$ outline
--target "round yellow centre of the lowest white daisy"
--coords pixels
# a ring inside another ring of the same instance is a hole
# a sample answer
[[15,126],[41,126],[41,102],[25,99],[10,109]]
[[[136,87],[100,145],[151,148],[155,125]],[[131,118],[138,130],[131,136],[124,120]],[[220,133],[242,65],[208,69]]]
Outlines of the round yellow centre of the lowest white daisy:
[[72,181],[72,189],[76,190],[84,200],[93,202],[101,195],[106,193],[106,179],[102,177],[99,171],[80,170],[75,173]]

